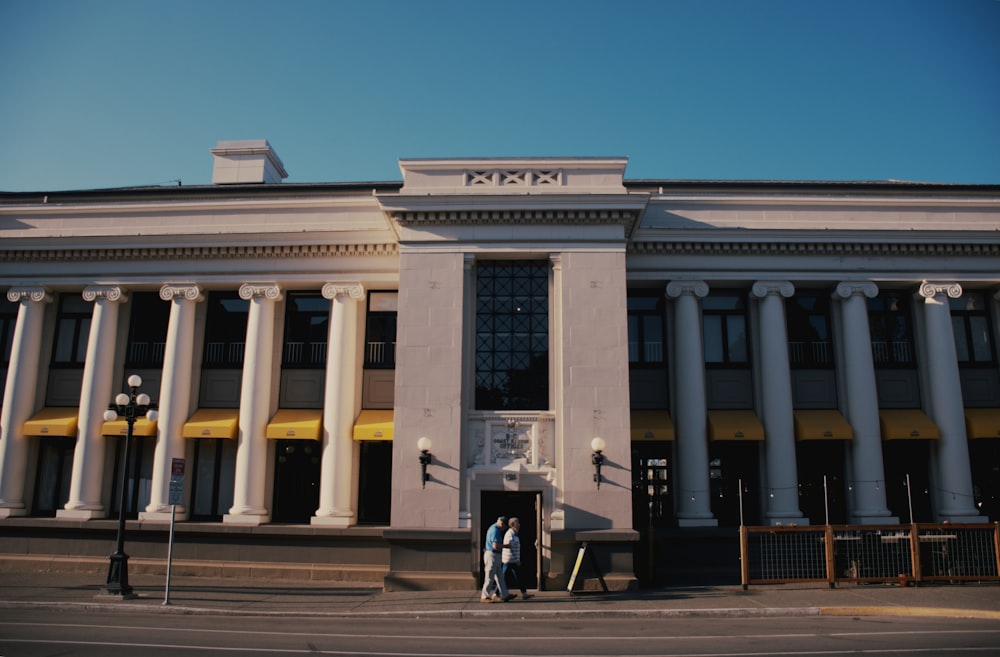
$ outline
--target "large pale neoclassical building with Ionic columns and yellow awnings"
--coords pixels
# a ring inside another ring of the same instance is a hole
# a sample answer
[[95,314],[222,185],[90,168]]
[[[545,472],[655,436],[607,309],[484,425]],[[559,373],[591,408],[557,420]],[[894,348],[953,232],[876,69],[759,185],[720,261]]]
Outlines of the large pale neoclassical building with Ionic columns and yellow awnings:
[[212,154],[210,186],[0,194],[7,558],[107,553],[131,374],[128,551],[176,505],[200,572],[473,587],[503,514],[532,583],[586,541],[620,587],[741,522],[1000,519],[1000,186]]

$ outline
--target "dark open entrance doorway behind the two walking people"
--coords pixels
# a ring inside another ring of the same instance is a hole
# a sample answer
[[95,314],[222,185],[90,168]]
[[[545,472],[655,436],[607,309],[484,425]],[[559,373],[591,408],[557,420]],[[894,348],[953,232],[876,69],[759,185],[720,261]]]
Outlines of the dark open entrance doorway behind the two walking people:
[[519,518],[521,520],[521,569],[518,575],[527,589],[539,588],[541,577],[541,514],[542,494],[538,491],[483,491],[479,503],[479,581],[483,578],[482,541],[486,530],[496,523],[497,517]]

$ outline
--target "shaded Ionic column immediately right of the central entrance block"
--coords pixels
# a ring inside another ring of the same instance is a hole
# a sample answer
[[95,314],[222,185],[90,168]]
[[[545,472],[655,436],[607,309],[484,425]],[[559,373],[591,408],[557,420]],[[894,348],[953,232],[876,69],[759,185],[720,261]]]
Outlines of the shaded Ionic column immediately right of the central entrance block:
[[666,296],[674,300],[674,399],[677,423],[677,524],[714,527],[708,476],[708,402],[700,299],[703,281],[671,281]]

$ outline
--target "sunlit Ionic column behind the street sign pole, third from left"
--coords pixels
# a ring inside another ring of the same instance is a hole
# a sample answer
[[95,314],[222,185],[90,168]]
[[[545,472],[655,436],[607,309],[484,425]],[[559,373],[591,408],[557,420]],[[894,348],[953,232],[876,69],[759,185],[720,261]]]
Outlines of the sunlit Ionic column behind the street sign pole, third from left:
[[[204,299],[201,288],[191,284],[164,285],[160,288],[160,298],[170,302],[170,320],[163,350],[152,490],[146,512],[139,514],[140,520],[170,520],[171,466],[175,458],[184,458],[184,423],[191,410],[195,306]],[[185,481],[193,476],[193,472],[187,473]],[[179,506],[177,514],[183,520],[187,509]]]

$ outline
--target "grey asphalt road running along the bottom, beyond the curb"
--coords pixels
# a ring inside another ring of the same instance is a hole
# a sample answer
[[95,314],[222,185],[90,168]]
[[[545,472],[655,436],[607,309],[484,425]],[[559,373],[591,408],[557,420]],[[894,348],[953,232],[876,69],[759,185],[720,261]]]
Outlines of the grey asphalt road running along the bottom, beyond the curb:
[[995,620],[908,617],[309,618],[6,609],[0,655],[1000,654]]

